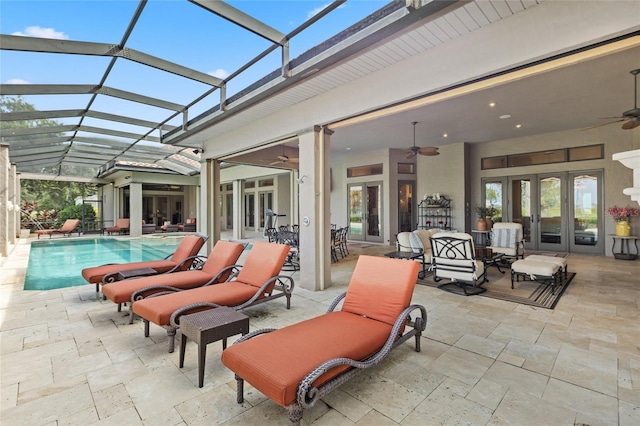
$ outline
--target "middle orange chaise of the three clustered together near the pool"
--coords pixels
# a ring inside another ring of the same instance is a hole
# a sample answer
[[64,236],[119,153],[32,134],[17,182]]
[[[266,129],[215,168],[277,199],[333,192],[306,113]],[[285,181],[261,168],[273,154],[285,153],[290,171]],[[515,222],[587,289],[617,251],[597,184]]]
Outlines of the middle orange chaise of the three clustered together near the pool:
[[[209,257],[197,269],[187,271],[165,272],[164,274],[146,277],[134,277],[102,285],[102,294],[107,299],[118,304],[118,311],[122,304],[135,300],[132,295],[142,289],[152,288],[143,294],[150,295],[165,289],[191,289],[225,281],[231,275],[232,267],[244,250],[244,244],[219,240]],[[141,296],[140,296],[141,297]],[[133,315],[131,321],[133,322]]]

